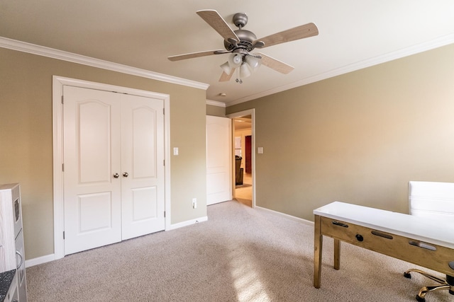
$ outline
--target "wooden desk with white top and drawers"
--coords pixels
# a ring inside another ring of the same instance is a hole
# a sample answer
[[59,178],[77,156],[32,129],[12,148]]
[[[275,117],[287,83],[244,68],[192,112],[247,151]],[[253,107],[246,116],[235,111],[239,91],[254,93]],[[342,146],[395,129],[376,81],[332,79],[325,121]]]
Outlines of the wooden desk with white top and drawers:
[[314,210],[314,286],[321,285],[323,236],[334,239],[334,269],[341,240],[400,260],[454,275],[454,221],[439,223],[407,214],[332,202]]

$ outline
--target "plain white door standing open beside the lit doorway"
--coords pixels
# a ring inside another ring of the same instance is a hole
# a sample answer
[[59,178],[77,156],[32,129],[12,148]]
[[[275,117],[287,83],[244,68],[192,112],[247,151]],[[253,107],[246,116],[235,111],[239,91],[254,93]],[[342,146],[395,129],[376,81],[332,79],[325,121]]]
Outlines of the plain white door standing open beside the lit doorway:
[[206,204],[232,199],[231,120],[206,116]]

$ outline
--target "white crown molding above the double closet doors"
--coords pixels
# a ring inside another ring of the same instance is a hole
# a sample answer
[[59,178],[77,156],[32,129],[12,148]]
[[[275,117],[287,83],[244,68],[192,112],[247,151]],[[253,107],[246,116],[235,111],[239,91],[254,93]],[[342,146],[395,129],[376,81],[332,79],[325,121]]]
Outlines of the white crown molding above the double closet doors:
[[12,40],[7,37],[0,37],[0,47],[7,48],[9,50],[17,50],[18,52],[28,52],[29,54],[37,54],[43,57],[50,57],[52,59],[59,59],[62,61],[83,64],[101,69],[107,69],[110,71],[117,71],[123,74],[131,74],[133,76],[141,76],[147,79],[153,79],[157,81],[163,81],[167,83],[174,83],[183,86],[189,86],[192,88],[208,89],[209,84],[191,81],[187,79],[177,78],[176,76],[168,76],[167,74],[159,74],[157,72],[148,71],[145,69],[139,69],[123,64],[117,64],[113,62],[104,61],[101,59],[94,59],[92,57],[82,56],[80,54],[74,54],[72,52],[64,52],[62,50],[55,50],[50,47],[44,47],[35,45],[27,42],[18,40]]

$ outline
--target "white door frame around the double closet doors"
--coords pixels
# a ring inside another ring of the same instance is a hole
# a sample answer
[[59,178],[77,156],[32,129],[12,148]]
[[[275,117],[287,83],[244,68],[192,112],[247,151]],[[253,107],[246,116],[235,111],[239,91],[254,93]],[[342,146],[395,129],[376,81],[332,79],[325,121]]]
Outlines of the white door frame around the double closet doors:
[[52,76],[52,144],[53,144],[53,209],[54,209],[54,259],[65,257],[65,211],[63,202],[63,86],[76,86],[101,91],[114,91],[149,98],[162,99],[164,102],[164,158],[165,158],[165,231],[170,228],[170,95],[154,93],[134,88],[114,86],[62,76]]

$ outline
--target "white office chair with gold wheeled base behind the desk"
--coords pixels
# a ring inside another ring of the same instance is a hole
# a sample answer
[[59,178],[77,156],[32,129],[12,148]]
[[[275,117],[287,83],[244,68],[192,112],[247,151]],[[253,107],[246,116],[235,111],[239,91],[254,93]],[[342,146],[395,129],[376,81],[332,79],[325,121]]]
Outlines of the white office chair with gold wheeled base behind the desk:
[[[436,219],[446,225],[454,223],[454,183],[451,182],[409,182],[410,214],[429,219]],[[454,230],[453,230],[454,231]],[[454,272],[454,259],[449,262]],[[416,295],[416,300],[426,301],[425,297],[431,291],[448,290],[454,295],[454,276],[446,275],[446,279],[435,277],[419,269],[409,269],[404,277],[411,278],[410,272],[422,274],[439,283],[435,286],[424,286]]]

